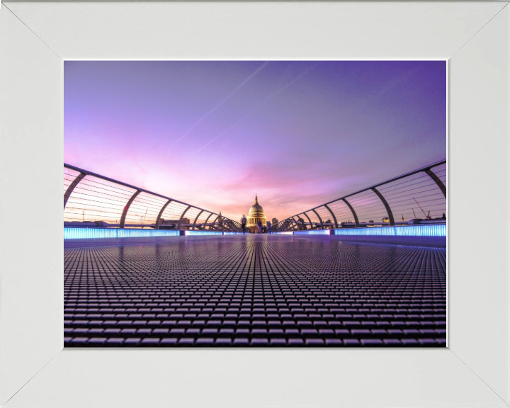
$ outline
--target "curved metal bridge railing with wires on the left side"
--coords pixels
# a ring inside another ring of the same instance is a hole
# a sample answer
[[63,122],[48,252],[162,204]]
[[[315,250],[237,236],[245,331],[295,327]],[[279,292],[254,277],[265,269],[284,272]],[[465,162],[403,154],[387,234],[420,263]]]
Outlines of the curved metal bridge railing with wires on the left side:
[[227,217],[64,164],[64,225],[240,232]]

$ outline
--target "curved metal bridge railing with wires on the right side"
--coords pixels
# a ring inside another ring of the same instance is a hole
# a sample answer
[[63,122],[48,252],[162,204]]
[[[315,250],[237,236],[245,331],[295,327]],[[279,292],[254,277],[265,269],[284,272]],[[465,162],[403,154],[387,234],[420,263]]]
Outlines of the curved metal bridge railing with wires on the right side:
[[446,222],[446,160],[278,222],[276,231]]

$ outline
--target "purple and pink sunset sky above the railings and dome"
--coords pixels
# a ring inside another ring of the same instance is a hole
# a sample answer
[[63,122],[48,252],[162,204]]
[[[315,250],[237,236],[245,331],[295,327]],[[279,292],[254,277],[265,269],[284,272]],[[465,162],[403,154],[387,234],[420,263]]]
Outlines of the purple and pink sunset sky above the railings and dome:
[[234,220],[445,158],[444,61],[64,62],[64,162]]

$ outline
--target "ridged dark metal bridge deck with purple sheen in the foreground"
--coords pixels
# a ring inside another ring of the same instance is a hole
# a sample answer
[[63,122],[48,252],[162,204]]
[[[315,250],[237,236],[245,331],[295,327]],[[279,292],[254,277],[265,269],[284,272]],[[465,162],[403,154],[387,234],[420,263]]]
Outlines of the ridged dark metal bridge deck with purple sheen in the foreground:
[[341,236],[69,240],[64,346],[446,346],[446,249]]

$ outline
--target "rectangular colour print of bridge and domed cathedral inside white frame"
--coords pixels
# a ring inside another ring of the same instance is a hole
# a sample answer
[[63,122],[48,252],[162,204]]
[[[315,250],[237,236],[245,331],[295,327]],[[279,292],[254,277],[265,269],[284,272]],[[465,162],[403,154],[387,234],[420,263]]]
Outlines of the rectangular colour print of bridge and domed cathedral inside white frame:
[[447,63],[64,62],[64,347],[446,347]]

